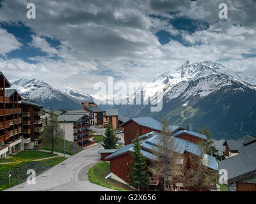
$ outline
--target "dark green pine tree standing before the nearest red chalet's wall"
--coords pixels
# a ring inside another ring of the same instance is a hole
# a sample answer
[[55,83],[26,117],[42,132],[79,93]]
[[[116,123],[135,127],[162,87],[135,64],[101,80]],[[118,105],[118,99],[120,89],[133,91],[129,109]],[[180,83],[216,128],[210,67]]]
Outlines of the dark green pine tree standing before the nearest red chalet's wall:
[[141,140],[138,134],[133,143],[134,152],[131,152],[131,157],[134,161],[131,161],[128,173],[129,184],[138,188],[140,191],[141,187],[146,188],[149,186],[149,175],[147,170],[147,159],[141,154]]

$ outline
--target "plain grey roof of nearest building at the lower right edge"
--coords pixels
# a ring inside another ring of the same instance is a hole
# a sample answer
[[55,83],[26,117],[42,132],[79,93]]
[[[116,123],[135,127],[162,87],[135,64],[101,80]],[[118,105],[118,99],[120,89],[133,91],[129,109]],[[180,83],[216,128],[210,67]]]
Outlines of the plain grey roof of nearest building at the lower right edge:
[[238,177],[256,171],[256,142],[238,151],[236,156],[218,162],[219,169],[227,170],[228,180],[239,180]]

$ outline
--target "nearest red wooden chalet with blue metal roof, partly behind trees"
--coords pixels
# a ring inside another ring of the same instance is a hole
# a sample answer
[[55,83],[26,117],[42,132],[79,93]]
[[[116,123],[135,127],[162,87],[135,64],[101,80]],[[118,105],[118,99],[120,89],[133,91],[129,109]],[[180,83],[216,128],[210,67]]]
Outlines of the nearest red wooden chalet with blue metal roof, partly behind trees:
[[[152,162],[154,162],[156,159],[152,149],[157,144],[159,134],[160,133],[157,131],[151,131],[150,133],[146,133],[140,136],[140,139],[143,142],[141,154],[147,158],[147,166],[150,166],[150,164],[152,164]],[[199,156],[202,154],[202,147],[197,143],[190,142],[189,140],[184,140],[179,137],[173,137],[173,140],[175,140],[175,151],[180,153],[180,157],[177,158],[177,161],[179,161],[180,165],[183,165],[184,161],[186,161],[186,157],[189,154],[192,154],[193,156]],[[111,179],[115,179],[123,183],[128,182],[129,163],[131,163],[133,159],[129,154],[133,150],[132,146],[132,143],[125,145],[124,147],[121,147],[120,149],[113,152],[113,154],[105,158],[106,161],[110,162]],[[218,170],[215,157],[204,154],[203,163],[209,169],[216,171]],[[185,168],[180,171],[180,177],[182,177],[184,173]],[[170,188],[172,191],[184,191],[184,183],[185,180],[176,179],[175,184]],[[163,191],[162,184],[163,181],[161,179],[153,177],[150,174],[150,187],[146,190]],[[216,189],[216,184],[213,184],[213,189]]]

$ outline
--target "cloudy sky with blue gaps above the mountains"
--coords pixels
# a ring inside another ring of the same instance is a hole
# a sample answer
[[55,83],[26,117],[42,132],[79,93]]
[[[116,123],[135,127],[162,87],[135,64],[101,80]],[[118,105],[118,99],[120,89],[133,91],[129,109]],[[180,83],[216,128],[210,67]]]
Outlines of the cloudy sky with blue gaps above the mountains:
[[[256,76],[256,0],[0,0],[0,70],[93,92],[97,82],[151,82],[185,61]],[[219,18],[225,3],[228,18]]]

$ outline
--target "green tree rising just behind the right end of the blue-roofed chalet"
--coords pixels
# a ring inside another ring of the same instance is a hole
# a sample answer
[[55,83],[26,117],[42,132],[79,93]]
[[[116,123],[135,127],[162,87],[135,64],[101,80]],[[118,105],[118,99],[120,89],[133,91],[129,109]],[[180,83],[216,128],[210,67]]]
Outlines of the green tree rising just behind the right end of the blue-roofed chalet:
[[213,145],[214,140],[212,139],[212,133],[206,125],[204,125],[204,128],[199,128],[198,133],[205,135],[207,138],[206,142],[203,144],[205,154],[209,154],[212,156],[215,152],[218,152],[216,147],[214,147]]

